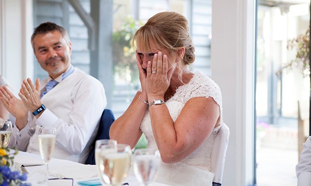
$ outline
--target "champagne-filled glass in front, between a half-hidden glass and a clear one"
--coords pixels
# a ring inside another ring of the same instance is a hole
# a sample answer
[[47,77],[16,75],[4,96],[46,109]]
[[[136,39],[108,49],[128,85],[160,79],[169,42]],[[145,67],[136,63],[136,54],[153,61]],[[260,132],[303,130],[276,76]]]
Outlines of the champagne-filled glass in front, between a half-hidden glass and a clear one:
[[[132,149],[127,144],[117,144],[117,147],[109,147],[105,153],[99,155],[100,177],[103,185],[121,186],[127,177],[131,166]],[[101,150],[103,152],[105,150]]]

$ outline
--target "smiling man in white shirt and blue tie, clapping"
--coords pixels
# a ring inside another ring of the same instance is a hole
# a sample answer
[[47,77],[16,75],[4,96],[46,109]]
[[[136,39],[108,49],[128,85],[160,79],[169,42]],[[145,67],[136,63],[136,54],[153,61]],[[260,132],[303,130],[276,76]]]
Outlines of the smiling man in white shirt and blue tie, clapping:
[[9,147],[39,154],[39,126],[51,126],[56,128],[53,157],[84,163],[107,105],[103,85],[71,65],[71,42],[63,27],[40,24],[31,44],[48,77],[35,85],[24,80],[21,99],[0,88],[0,101],[16,118]]

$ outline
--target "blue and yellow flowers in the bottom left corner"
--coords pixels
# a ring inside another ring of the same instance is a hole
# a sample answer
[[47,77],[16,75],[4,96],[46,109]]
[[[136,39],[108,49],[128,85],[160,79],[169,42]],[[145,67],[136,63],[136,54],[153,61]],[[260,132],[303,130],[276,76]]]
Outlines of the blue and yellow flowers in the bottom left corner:
[[18,153],[9,153],[7,147],[0,147],[0,185],[1,186],[30,186],[23,183],[27,180],[26,173],[14,169],[14,156]]

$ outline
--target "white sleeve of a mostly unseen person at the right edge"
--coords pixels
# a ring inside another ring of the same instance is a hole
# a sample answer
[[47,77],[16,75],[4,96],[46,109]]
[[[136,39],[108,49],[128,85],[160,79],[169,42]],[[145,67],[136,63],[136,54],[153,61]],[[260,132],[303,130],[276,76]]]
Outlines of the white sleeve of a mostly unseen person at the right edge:
[[298,186],[311,186],[311,137],[304,143],[300,162],[296,165]]

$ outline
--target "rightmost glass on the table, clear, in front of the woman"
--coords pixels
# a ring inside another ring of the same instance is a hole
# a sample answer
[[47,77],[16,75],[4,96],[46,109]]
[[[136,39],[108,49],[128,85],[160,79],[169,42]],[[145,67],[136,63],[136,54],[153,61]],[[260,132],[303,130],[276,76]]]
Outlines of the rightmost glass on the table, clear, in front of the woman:
[[160,160],[160,152],[157,149],[136,149],[133,155],[133,166],[138,182],[143,186],[151,186],[156,179]]

